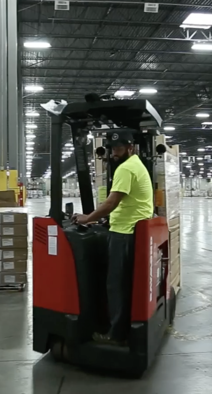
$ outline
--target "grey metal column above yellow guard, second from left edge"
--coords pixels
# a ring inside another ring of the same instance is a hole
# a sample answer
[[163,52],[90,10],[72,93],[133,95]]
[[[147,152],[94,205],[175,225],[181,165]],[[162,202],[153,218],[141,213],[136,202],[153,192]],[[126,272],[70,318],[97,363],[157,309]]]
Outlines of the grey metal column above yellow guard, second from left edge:
[[7,0],[7,50],[9,167],[10,169],[18,169],[18,54],[16,0]]

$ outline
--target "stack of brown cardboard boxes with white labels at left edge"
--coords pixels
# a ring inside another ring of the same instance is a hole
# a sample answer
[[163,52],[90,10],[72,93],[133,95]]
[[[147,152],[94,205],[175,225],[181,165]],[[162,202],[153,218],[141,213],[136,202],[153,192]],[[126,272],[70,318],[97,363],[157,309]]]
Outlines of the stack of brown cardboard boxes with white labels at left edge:
[[0,286],[27,281],[27,214],[0,213]]

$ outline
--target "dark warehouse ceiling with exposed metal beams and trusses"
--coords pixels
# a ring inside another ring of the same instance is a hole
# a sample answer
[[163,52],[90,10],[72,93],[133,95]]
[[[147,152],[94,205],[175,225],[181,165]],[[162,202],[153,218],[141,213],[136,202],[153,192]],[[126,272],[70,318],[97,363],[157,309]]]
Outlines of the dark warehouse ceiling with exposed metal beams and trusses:
[[[50,99],[79,101],[88,92],[133,91],[132,99],[148,99],[164,126],[175,128],[166,131],[169,143],[179,143],[187,156],[212,154],[212,125],[202,125],[212,121],[212,51],[192,49],[210,39],[211,28],[179,27],[190,13],[212,14],[212,5],[210,0],[185,3],[164,0],[158,12],[150,13],[144,12],[141,1],[78,0],[69,2],[69,10],[56,11],[54,1],[18,0],[24,114],[40,114],[24,115],[25,125],[37,126],[33,177],[42,176],[49,166],[50,121],[40,104]],[[27,41],[51,46],[29,49],[24,47]],[[29,93],[27,85],[43,90]],[[139,93],[142,88],[157,93]],[[64,143],[69,139],[67,126]],[[212,163],[201,157],[207,173]],[[196,160],[192,170],[197,171],[198,164]],[[63,172],[72,165],[73,158],[64,158]],[[188,171],[184,157],[183,172]]]

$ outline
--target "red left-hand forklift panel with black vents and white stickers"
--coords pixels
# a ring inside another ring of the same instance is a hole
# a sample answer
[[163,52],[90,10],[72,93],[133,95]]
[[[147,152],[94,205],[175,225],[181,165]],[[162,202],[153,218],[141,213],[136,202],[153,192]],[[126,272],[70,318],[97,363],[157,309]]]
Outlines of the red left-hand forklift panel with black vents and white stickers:
[[75,262],[63,230],[57,226],[57,255],[48,253],[49,217],[33,219],[33,306],[79,314]]

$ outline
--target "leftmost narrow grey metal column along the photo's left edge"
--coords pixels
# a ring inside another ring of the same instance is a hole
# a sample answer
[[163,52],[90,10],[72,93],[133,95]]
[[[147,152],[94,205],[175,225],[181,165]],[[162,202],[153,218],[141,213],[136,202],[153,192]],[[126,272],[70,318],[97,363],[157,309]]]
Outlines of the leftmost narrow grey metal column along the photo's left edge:
[[[0,169],[7,166],[7,0],[0,0]],[[1,187],[1,185],[0,185]]]

